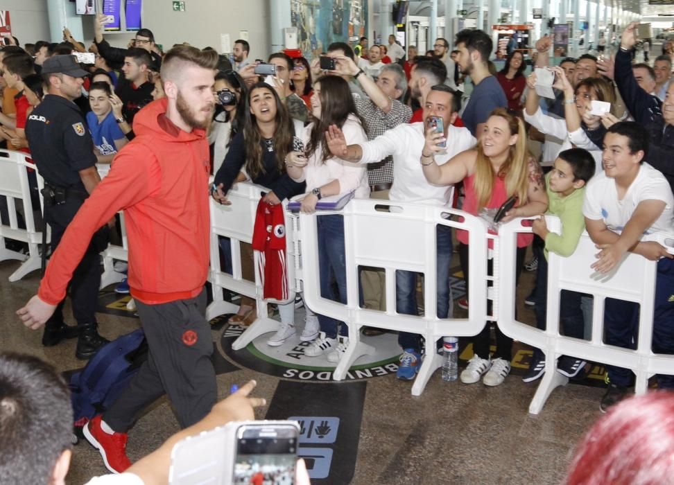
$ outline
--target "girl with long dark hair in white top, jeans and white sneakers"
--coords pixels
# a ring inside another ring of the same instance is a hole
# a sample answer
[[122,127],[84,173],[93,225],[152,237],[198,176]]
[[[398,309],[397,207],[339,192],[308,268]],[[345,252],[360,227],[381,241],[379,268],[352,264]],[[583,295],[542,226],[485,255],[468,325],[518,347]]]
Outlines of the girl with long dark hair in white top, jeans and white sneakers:
[[[291,152],[286,159],[288,175],[297,182],[306,180],[307,194],[302,199],[302,211],[313,213],[322,197],[355,192],[357,198],[370,196],[365,166],[354,166],[334,157],[328,150],[326,132],[330,125],[341,128],[347,144],[365,143],[365,123],[356,113],[349,85],[338,76],[325,76],[313,85],[311,96],[313,123],[304,132],[306,156]],[[324,298],[347,302],[344,247],[344,218],[342,215],[318,216],[318,261],[320,292]],[[334,290],[333,280],[338,291]],[[339,362],[349,344],[348,328],[342,321],[318,315],[320,334],[304,355],[316,357],[327,354],[329,362]]]

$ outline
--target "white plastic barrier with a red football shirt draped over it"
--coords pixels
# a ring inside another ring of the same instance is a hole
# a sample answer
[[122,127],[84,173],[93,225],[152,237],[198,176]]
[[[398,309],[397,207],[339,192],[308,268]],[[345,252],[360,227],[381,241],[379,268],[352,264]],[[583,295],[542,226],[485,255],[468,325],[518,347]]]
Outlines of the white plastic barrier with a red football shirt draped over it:
[[[241,182],[235,184],[227,192],[227,199],[231,205],[218,204],[211,199],[211,270],[209,281],[213,286],[213,302],[206,309],[207,319],[212,319],[223,313],[236,312],[236,305],[225,301],[222,290],[243,294],[257,301],[257,319],[232,344],[234,350],[243,349],[255,338],[263,333],[274,332],[279,323],[268,317],[267,302],[288,303],[295,301],[295,290],[299,288],[295,280],[297,264],[296,256],[299,252],[297,241],[297,217],[286,211],[286,269],[288,273],[288,299],[278,301],[263,299],[263,288],[257,272],[259,256],[254,252],[255,281],[247,281],[241,275],[241,243],[252,243],[252,233],[257,214],[257,204],[267,188]],[[221,256],[219,238],[230,239],[232,248],[232,274],[221,270]]]

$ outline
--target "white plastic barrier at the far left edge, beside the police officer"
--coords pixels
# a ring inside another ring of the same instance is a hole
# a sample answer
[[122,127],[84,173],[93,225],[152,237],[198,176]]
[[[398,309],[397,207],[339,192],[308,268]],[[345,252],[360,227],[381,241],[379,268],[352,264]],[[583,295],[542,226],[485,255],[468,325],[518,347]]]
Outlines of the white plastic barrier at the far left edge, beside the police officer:
[[[0,223],[0,261],[15,259],[23,262],[10,275],[9,281],[19,281],[26,274],[39,270],[41,266],[38,245],[42,244],[42,231],[37,231],[35,228],[35,218],[33,217],[33,210],[40,208],[33,207],[31,202],[31,188],[28,186],[28,172],[26,170],[31,168],[37,172],[37,169],[27,159],[28,156],[22,152],[0,150],[0,195],[3,195],[6,199],[9,219],[8,223]],[[38,184],[40,184],[40,177],[37,178]],[[26,229],[19,229],[17,200],[20,200],[23,205]],[[42,204],[42,196],[40,196],[40,204]],[[49,231],[47,235],[49,236]],[[28,256],[7,249],[5,238],[28,243]],[[49,238],[47,240],[49,241]]]

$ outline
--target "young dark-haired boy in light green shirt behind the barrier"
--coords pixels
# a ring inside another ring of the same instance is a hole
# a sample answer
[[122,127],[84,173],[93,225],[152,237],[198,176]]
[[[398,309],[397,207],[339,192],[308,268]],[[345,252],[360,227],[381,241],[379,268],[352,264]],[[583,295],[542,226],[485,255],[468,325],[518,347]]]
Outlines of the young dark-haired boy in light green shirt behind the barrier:
[[[585,230],[585,218],[582,215],[582,203],[585,197],[585,184],[594,175],[595,161],[587,150],[571,148],[560,152],[553,169],[546,175],[548,193],[548,211],[562,222],[562,233],[548,231],[545,218],[533,222],[533,232],[545,241],[545,258],[539,258],[536,276],[537,301],[536,325],[541,330],[546,327],[548,306],[548,252],[560,256],[571,256]],[[567,337],[583,337],[585,323],[580,309],[578,292],[562,290],[560,301],[560,327]],[[574,377],[585,367],[585,361],[567,355],[560,357],[557,370],[567,377]],[[545,356],[539,349],[534,350],[528,372],[522,378],[524,382],[537,380],[545,373]]]

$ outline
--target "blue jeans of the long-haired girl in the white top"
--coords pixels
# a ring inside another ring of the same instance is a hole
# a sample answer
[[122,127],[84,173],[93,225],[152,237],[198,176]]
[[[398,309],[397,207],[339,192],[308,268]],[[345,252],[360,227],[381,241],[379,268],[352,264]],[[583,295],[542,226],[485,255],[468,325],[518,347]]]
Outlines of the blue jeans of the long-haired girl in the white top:
[[[346,254],[344,247],[344,216],[318,215],[318,272],[320,296],[332,301],[347,302]],[[336,283],[336,288],[334,283]],[[326,337],[348,335],[349,328],[343,321],[318,315],[320,329]]]

